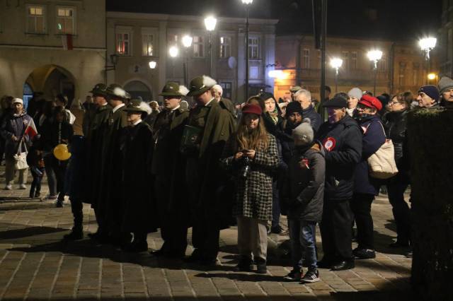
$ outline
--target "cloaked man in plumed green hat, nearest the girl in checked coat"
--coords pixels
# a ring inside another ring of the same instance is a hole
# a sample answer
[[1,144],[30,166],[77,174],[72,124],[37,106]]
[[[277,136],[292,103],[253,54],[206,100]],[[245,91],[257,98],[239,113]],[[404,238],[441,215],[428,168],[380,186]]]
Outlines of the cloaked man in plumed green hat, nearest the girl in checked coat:
[[191,110],[188,125],[197,129],[190,145],[183,146],[187,154],[186,181],[190,191],[192,242],[195,247],[188,261],[210,265],[217,261],[219,230],[231,212],[219,211],[216,192],[220,185],[219,158],[225,142],[234,131],[234,118],[212,95],[216,84],[209,76],[198,76],[190,81],[190,92],[197,106]]

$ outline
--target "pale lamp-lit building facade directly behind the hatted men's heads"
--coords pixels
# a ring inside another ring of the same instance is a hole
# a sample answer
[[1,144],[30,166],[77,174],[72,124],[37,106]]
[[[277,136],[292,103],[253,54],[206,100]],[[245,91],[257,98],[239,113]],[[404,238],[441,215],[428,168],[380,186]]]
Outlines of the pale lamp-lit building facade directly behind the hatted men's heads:
[[[206,74],[222,85],[224,97],[244,101],[245,20],[218,18],[212,32],[205,29],[203,20],[201,16],[108,11],[107,55],[112,65],[108,83],[119,83],[147,101],[161,100],[159,93],[166,81],[188,85],[191,78]],[[268,71],[275,66],[276,23],[250,20],[249,95],[273,90]],[[185,35],[193,38],[190,47],[183,45]],[[178,52],[176,57],[169,54],[170,47]]]

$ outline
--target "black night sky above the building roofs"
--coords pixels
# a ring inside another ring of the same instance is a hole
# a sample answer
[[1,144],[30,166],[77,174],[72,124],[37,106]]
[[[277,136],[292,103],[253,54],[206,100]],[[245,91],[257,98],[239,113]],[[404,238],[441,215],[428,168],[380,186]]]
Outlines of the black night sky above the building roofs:
[[[106,0],[108,11],[242,18],[241,0]],[[220,13],[219,13],[220,12]],[[340,37],[418,40],[436,35],[442,0],[330,0],[327,33]],[[251,18],[275,18],[277,34],[312,33],[311,0],[255,0]]]

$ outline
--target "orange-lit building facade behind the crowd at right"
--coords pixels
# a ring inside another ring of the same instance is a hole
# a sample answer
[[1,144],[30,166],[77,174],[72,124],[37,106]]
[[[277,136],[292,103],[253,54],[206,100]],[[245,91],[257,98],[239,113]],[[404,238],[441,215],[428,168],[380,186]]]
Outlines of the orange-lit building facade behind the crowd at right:
[[[278,36],[276,39],[276,69],[282,70],[275,78],[276,98],[289,98],[289,87],[302,85],[319,99],[321,82],[321,52],[314,47],[314,37],[310,35]],[[369,61],[367,52],[379,49],[383,52],[377,69]],[[332,58],[343,59],[338,69],[331,68]],[[435,59],[431,70],[435,71]],[[382,93],[399,93],[406,90],[417,92],[420,85],[427,83],[426,61],[416,42],[392,42],[385,40],[365,40],[343,37],[328,37],[326,43],[326,85],[332,94],[348,92],[350,88]]]

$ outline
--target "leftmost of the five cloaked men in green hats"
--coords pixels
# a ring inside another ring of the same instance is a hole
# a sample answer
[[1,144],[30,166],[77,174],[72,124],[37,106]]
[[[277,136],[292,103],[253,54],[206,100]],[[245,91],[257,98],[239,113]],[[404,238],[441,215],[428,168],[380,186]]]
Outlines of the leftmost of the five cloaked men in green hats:
[[88,234],[89,237],[103,242],[106,237],[103,216],[98,213],[98,189],[101,184],[101,167],[103,158],[103,140],[104,131],[108,126],[108,120],[112,114],[112,107],[107,102],[107,87],[103,83],[98,83],[93,90],[94,103],[96,110],[93,113],[93,119],[86,133],[86,153],[87,153],[87,175],[86,175],[86,202],[91,203],[94,209],[96,220],[98,222],[98,231]]

